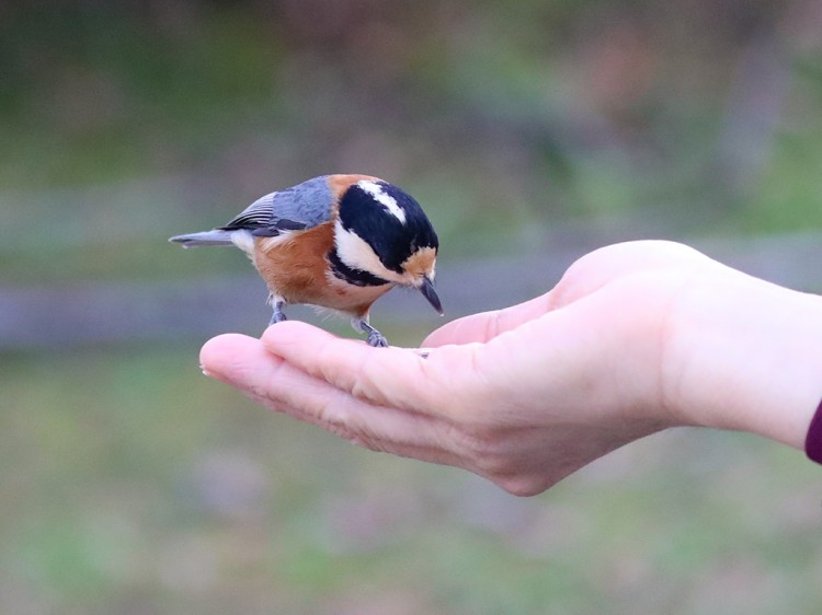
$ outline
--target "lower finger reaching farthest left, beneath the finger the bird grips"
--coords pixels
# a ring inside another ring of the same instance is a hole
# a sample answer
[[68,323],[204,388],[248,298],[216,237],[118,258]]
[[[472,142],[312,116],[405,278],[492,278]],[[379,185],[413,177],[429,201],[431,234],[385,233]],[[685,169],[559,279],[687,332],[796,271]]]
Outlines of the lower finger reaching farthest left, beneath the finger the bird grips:
[[260,340],[222,335],[201,351],[206,373],[255,402],[374,451],[448,465],[460,457],[446,425],[356,399],[271,355]]

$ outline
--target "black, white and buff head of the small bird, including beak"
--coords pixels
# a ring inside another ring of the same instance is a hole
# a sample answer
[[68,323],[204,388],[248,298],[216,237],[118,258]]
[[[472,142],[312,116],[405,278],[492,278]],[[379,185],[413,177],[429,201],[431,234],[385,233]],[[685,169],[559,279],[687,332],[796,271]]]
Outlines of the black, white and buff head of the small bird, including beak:
[[434,291],[434,228],[420,204],[377,178],[352,183],[340,196],[332,260],[352,283],[415,288],[439,313]]

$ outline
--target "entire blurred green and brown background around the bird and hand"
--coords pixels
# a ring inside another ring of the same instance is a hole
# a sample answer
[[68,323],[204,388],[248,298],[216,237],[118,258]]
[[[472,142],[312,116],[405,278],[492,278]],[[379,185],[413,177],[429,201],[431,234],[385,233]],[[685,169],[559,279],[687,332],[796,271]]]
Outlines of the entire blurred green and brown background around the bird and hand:
[[821,291],[821,169],[817,0],[0,2],[0,611],[815,613],[800,452],[676,430],[517,499],[355,449],[201,375],[265,289],[167,237],[359,172],[447,318],[631,239]]

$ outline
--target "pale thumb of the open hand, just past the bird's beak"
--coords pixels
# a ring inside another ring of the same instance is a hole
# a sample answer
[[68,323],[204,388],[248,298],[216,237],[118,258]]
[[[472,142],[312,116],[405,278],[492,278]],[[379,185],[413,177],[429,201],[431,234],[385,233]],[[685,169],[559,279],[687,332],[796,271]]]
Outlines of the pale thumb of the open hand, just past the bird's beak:
[[429,335],[422,346],[434,348],[446,344],[484,343],[523,323],[538,318],[548,310],[549,295],[546,293],[504,310],[483,312],[453,321]]

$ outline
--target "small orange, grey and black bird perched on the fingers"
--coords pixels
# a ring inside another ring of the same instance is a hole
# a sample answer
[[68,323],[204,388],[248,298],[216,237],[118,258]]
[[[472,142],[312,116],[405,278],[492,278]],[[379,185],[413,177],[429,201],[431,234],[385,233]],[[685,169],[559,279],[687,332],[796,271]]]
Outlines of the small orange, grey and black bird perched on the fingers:
[[269,287],[270,324],[306,303],[347,314],[370,346],[386,347],[368,312],[396,286],[418,289],[443,314],[434,228],[419,202],[378,177],[321,175],[259,198],[225,227],[169,241],[242,250]]

